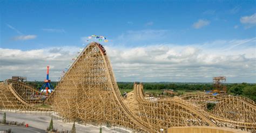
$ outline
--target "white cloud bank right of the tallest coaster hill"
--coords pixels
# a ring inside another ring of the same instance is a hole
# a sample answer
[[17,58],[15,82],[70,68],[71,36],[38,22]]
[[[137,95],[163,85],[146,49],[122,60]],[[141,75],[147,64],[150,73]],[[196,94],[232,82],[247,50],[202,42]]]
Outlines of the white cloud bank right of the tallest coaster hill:
[[207,47],[157,45],[106,49],[119,81],[211,82],[212,77],[224,75],[228,82],[255,82],[255,48],[227,52]]

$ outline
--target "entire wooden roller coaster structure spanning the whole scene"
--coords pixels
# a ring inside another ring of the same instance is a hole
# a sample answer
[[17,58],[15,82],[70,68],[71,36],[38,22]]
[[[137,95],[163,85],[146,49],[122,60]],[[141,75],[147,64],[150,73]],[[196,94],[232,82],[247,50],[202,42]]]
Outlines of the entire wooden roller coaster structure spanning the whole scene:
[[[214,126],[255,131],[254,101],[235,96],[185,94],[178,98],[146,99],[143,85],[134,83],[136,108],[125,103],[105,49],[92,42],[50,95],[15,80],[0,83],[0,109],[56,112],[66,121],[119,125],[142,132],[170,127]],[[209,112],[207,102],[216,102]],[[51,108],[42,108],[48,104]]]

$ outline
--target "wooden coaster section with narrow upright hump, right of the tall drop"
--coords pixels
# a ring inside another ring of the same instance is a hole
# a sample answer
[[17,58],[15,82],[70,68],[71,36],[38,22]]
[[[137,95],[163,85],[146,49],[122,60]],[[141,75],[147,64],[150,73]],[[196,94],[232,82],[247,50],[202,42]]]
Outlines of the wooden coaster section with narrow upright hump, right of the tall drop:
[[204,114],[183,100],[162,100],[158,98],[145,98],[143,85],[134,83],[134,97],[138,101],[138,116],[149,123],[151,127],[167,130],[170,127],[183,127],[192,125],[217,126]]

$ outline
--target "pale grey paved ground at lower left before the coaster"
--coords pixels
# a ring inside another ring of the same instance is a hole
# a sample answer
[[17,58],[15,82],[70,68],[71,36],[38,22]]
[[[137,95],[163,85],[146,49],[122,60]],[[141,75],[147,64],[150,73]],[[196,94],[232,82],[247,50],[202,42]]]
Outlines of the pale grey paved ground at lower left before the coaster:
[[[0,111],[0,119],[3,117],[2,111]],[[48,113],[49,115],[49,113]],[[14,113],[14,112],[6,112],[6,121],[17,121],[17,122],[25,122],[25,124],[29,124],[29,127],[33,127],[35,129],[46,130],[51,121],[51,116],[45,116],[45,113]],[[53,127],[57,128],[59,131],[61,130],[71,130],[73,123],[65,123],[62,120],[57,120],[53,116]],[[102,132],[131,132],[125,129],[108,129],[106,127],[102,127]],[[80,125],[76,123],[76,132],[99,132],[99,127],[95,127],[93,125]]]

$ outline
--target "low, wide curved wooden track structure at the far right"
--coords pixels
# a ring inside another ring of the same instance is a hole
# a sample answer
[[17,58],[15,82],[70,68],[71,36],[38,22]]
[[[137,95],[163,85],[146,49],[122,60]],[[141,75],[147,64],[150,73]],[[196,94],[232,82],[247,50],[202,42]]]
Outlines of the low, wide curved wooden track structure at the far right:
[[[219,126],[255,131],[256,106],[251,99],[232,95],[213,96],[205,93],[180,95],[179,99],[198,106]],[[215,104],[212,110],[207,110],[207,103]]]

